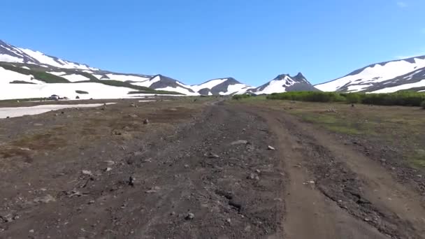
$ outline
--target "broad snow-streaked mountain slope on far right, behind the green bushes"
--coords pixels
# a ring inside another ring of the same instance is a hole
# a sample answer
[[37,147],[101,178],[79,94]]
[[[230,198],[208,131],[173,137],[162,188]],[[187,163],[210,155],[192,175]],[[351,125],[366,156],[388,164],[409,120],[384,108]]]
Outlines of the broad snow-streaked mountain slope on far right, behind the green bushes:
[[324,92],[422,91],[425,89],[425,56],[371,64],[315,87]]

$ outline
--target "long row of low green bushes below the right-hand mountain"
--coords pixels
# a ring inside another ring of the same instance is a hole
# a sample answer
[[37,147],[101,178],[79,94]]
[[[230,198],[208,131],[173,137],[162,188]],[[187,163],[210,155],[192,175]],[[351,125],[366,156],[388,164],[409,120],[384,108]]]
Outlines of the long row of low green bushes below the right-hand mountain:
[[284,92],[274,93],[267,99],[312,102],[364,103],[379,106],[421,106],[425,101],[422,92],[395,92],[387,94],[337,93],[337,92]]

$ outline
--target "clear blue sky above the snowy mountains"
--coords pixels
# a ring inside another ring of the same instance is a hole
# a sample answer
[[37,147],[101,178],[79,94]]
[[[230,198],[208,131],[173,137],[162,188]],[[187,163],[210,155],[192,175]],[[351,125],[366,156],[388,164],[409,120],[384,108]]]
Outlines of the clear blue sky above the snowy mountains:
[[424,0],[2,1],[0,39],[110,71],[187,84],[312,83],[425,55]]

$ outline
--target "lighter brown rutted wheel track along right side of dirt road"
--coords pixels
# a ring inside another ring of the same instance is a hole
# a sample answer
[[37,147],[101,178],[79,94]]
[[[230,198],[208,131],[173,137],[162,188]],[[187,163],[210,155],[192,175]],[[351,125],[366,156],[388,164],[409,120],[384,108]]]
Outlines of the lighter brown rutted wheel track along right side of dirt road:
[[267,119],[289,174],[288,238],[424,238],[421,197],[385,168],[291,115],[250,111]]

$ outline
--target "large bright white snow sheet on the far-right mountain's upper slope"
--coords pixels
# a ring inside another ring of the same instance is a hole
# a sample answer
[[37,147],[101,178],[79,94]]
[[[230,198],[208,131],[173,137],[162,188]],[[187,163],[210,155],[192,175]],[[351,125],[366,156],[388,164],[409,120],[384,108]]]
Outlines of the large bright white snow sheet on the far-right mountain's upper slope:
[[[363,71],[356,75],[347,75],[337,80],[315,85],[315,87],[324,92],[335,92],[344,85],[349,84],[353,85],[352,87],[349,87],[350,91],[359,92],[361,89],[368,87],[368,83],[391,80],[398,76],[415,71],[415,69],[425,67],[425,59],[415,58],[414,61],[415,63],[410,63],[405,60],[390,61],[383,66],[375,64],[363,69]],[[356,85],[356,87],[354,87],[354,85]]]

